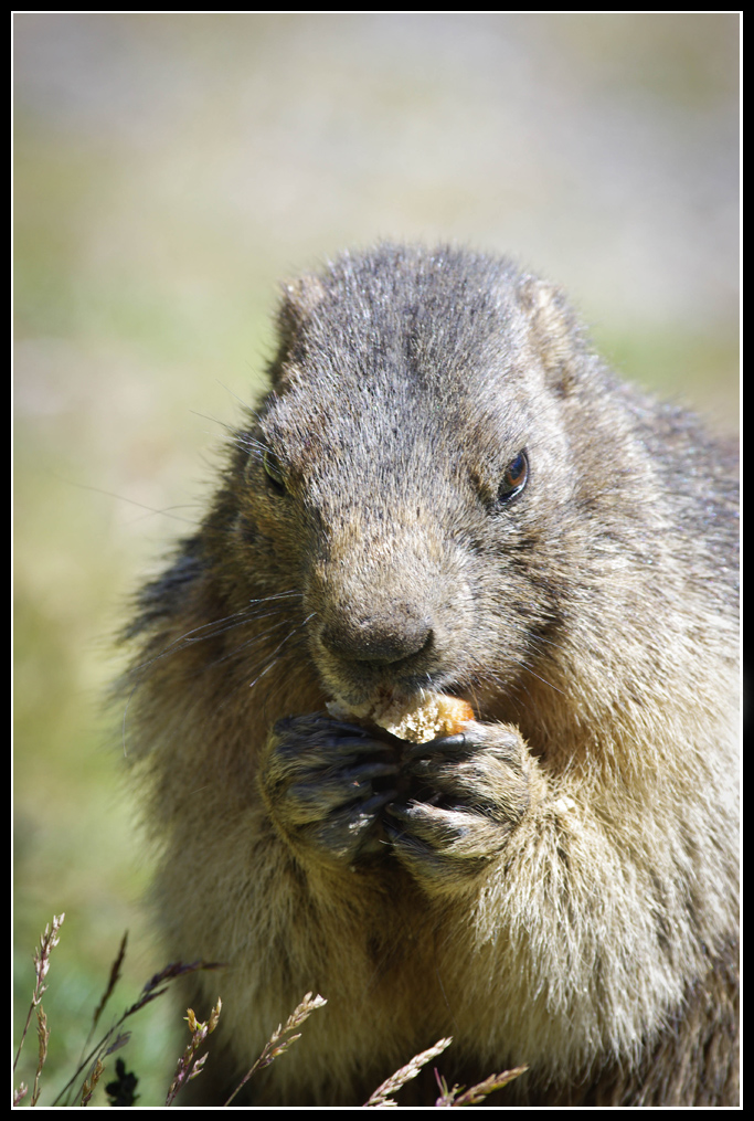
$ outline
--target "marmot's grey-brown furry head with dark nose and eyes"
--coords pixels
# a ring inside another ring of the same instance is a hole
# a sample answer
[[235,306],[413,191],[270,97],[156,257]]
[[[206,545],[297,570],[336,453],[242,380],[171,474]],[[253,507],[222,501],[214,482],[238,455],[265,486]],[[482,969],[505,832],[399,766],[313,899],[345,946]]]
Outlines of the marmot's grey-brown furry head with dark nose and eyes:
[[607,379],[559,294],[510,261],[385,245],[288,286],[279,327],[273,390],[239,437],[241,519],[266,578],[302,593],[326,689],[520,677],[577,578],[601,427],[620,442],[592,416]]

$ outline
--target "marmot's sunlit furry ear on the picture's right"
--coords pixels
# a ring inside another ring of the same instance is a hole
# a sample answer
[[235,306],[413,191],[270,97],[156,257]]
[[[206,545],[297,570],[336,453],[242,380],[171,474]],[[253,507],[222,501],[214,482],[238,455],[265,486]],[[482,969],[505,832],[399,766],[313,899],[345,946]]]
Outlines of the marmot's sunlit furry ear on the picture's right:
[[560,288],[537,277],[522,277],[518,295],[530,322],[529,343],[551,387],[567,397],[576,388],[579,362],[586,350],[573,308]]

